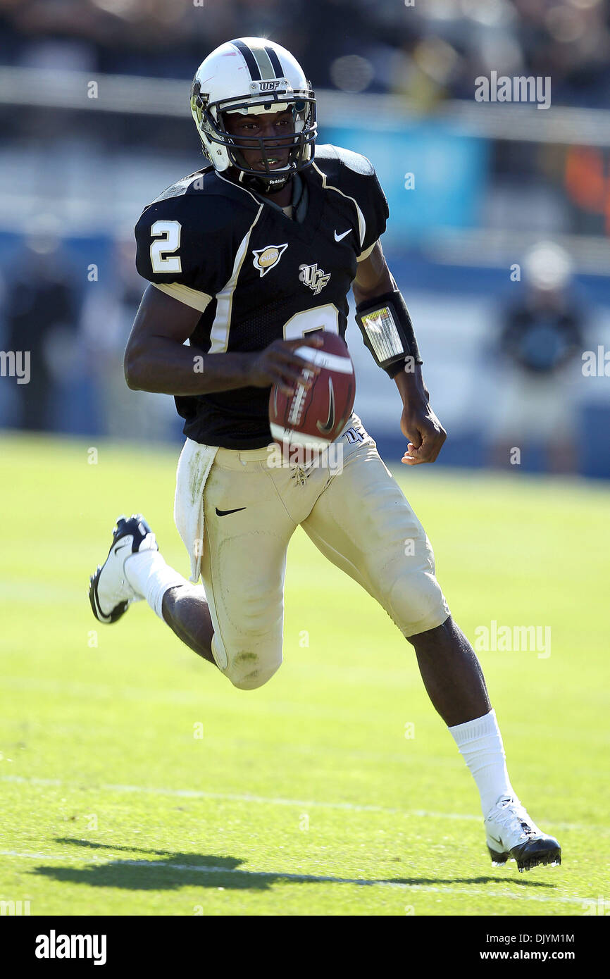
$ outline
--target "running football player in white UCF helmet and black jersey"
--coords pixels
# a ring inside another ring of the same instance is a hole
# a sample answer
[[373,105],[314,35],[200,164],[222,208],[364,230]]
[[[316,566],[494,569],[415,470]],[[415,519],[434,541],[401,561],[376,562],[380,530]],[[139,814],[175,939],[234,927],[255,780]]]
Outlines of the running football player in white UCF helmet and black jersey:
[[282,662],[286,551],[301,525],[413,645],[475,778],[493,862],[559,863],[557,840],[512,788],[481,667],[450,617],[428,537],[360,420],[338,436],[335,472],[268,464],[269,388],[292,395],[305,366],[298,348],[319,345],[320,330],[344,336],[351,288],[364,342],[399,390],[402,462],[434,462],[445,442],[379,241],[388,205],[373,166],[336,146],[314,152],[311,86],[264,38],[212,51],[191,110],[207,163],[137,223],[137,268],[151,284],[124,366],[130,388],[174,396],[184,418],[175,516],[192,575],[165,563],[141,515],[120,518],[91,579],[94,615],[114,623],[146,599],[235,686],[255,689]]

